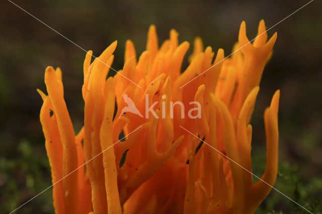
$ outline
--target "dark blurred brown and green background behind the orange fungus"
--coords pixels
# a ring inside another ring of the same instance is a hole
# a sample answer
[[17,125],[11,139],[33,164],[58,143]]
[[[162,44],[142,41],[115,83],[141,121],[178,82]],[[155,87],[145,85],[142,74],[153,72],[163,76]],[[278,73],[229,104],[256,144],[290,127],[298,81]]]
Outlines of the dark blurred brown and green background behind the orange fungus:
[[[251,40],[261,19],[270,28],[308,1],[13,2],[95,56],[118,40],[112,67],[119,70],[125,41],[131,39],[140,54],[150,24],[156,25],[159,43],[175,28],[180,42],[192,44],[200,36],[205,46],[223,48],[227,56],[241,21],[246,21]],[[315,0],[268,32],[269,37],[278,32],[278,38],[252,119],[253,168],[261,176],[266,161],[263,112],[275,90],[281,89],[275,187],[313,213],[322,210],[321,9],[322,1]],[[45,68],[62,69],[67,108],[78,132],[84,119],[81,88],[86,53],[8,1],[0,7],[0,50],[0,213],[8,213],[51,185],[39,122],[42,100],[36,92],[36,88],[45,91]],[[53,213],[51,191],[17,213]],[[256,213],[305,211],[272,190]]]

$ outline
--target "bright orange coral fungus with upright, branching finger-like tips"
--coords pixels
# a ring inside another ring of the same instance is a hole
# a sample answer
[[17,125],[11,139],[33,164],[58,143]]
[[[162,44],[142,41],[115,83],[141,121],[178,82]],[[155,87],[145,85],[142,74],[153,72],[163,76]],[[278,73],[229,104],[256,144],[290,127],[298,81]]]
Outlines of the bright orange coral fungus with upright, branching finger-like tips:
[[[61,71],[47,67],[48,95],[38,92],[44,101],[40,121],[55,212],[254,213],[275,182],[278,162],[276,91],[264,113],[266,170],[253,182],[249,123],[277,37],[268,40],[265,31],[261,21],[250,43],[241,23],[233,47],[240,50],[228,58],[222,49],[216,54],[204,49],[196,38],[185,71],[189,43],[179,44],[179,34],[171,30],[170,39],[159,46],[153,25],[140,57],[126,42],[124,67],[114,77],[107,74],[117,42],[92,63],[89,51],[84,127],[77,135],[63,98]],[[122,112],[129,99],[136,112]],[[199,117],[191,117],[196,111],[189,113],[188,106],[196,103]]]

